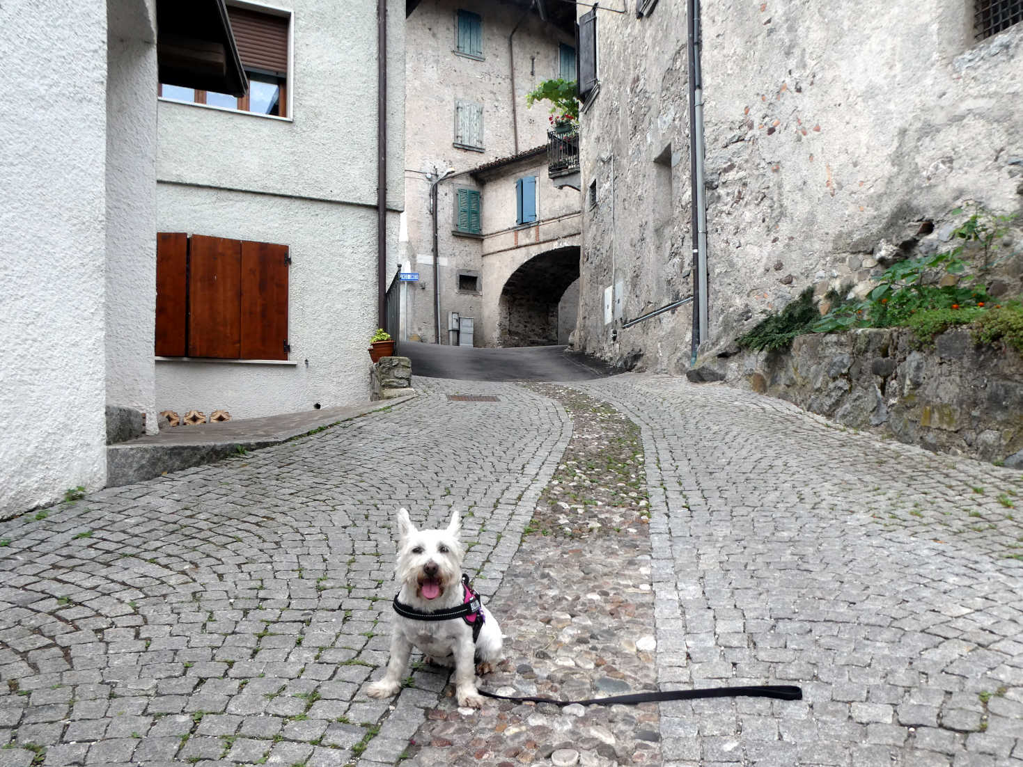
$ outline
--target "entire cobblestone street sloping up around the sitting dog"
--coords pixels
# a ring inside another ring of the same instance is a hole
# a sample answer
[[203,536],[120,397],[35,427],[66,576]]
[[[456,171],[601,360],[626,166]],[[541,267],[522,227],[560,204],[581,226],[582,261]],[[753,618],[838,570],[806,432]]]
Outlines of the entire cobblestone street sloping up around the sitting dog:
[[[642,520],[564,502],[604,522],[592,543],[534,515],[599,424],[574,434],[546,390],[428,378],[391,410],[0,523],[0,767],[1023,765],[1018,470],[717,385],[571,386],[640,428]],[[508,637],[485,688],[593,696],[656,674],[804,701],[473,712],[418,666],[369,698],[401,505],[420,526],[463,514]]]

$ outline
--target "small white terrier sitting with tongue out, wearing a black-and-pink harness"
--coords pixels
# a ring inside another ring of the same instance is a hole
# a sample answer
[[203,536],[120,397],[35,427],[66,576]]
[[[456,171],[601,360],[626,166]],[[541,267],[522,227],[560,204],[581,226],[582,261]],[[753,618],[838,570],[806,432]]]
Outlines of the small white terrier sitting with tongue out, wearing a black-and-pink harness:
[[[398,562],[396,574],[401,590],[395,601],[398,617],[391,637],[391,660],[384,678],[369,685],[372,697],[388,697],[401,689],[401,679],[408,668],[412,646],[421,650],[425,660],[442,666],[454,666],[455,695],[458,705],[479,709],[483,696],[476,690],[476,672],[493,670],[501,660],[501,630],[490,612],[479,612],[447,620],[431,620],[431,614],[469,610],[472,598],[479,601],[462,583],[461,559],[464,550],[458,534],[458,512],[444,530],[416,530],[404,508],[398,511]],[[409,618],[408,615],[424,616]],[[483,625],[474,627],[477,621]],[[476,666],[479,661],[479,667]]]

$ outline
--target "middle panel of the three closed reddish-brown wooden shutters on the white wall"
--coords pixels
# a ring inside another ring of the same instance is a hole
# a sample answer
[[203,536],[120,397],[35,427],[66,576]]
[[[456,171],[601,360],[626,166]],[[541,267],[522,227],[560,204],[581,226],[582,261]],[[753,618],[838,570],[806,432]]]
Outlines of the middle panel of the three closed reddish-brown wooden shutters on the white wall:
[[193,234],[188,258],[188,356],[238,359],[241,242]]

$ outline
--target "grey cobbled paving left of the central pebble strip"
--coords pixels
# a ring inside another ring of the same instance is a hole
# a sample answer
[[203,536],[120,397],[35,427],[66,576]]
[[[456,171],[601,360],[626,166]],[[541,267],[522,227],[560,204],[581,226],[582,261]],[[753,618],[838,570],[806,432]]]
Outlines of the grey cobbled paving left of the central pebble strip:
[[463,512],[491,595],[571,430],[522,388],[416,386],[390,412],[0,523],[0,766],[397,761],[437,691],[362,689],[387,660],[394,511]]

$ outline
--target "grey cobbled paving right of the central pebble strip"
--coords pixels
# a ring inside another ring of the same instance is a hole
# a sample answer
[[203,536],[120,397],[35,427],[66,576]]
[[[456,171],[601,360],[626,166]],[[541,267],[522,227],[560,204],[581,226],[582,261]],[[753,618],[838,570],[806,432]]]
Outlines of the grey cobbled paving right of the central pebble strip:
[[673,765],[1023,764],[1023,477],[719,385],[579,385],[642,427]]

